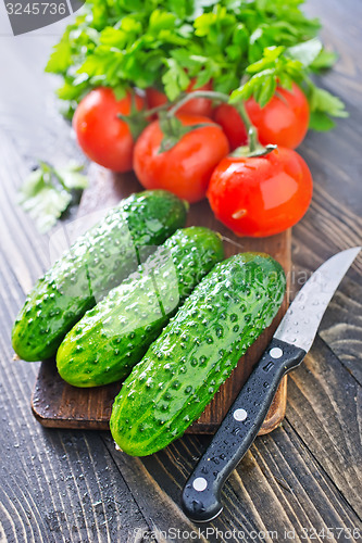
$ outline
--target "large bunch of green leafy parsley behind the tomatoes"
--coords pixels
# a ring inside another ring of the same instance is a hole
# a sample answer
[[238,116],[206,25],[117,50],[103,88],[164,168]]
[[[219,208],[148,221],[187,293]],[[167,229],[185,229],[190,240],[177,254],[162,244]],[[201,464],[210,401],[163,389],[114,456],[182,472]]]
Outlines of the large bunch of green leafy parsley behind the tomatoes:
[[336,55],[317,39],[319,20],[300,10],[303,0],[86,0],[80,15],[55,46],[47,71],[63,77],[58,94],[71,111],[97,86],[155,87],[170,101],[196,78],[212,79],[232,100],[253,96],[262,105],[276,85],[301,85],[311,125],[333,126],[346,116],[342,102],[311,80]]

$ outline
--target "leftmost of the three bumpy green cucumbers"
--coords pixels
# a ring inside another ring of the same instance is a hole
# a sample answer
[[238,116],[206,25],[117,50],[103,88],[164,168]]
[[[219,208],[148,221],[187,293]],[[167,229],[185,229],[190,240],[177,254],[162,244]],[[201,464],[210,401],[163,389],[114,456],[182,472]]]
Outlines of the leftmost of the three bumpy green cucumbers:
[[185,202],[162,190],[133,194],[111,210],[33,288],[12,330],[17,355],[53,356],[86,311],[137,269],[145,247],[162,243],[186,215]]

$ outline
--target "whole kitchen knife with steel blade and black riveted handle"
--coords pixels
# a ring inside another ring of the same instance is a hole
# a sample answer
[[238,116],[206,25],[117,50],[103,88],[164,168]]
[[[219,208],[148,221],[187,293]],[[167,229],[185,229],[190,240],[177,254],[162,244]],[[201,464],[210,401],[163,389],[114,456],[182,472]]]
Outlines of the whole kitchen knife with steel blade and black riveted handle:
[[282,378],[299,366],[312,346],[324,312],[360,250],[347,249],[327,260],[290,304],[184,487],[182,506],[191,520],[208,522],[222,512],[224,482],[254,441]]

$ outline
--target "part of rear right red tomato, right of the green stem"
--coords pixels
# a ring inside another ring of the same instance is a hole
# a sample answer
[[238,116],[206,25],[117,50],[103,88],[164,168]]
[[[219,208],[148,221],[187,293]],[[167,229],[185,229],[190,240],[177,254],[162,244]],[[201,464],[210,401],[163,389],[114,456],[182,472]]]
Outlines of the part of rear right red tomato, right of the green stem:
[[304,92],[292,84],[291,91],[277,87],[272,100],[261,108],[254,99],[246,102],[251,123],[258,128],[262,146],[274,143],[295,149],[308,130],[309,104]]

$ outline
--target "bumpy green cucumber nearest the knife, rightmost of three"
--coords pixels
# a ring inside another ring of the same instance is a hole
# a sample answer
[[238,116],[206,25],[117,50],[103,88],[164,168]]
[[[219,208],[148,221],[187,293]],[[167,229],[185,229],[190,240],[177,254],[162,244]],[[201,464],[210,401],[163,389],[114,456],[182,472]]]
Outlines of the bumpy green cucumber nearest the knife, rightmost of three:
[[240,356],[272,323],[285,282],[280,265],[264,254],[238,254],[216,264],[115,399],[110,427],[125,453],[160,451],[199,418]]

